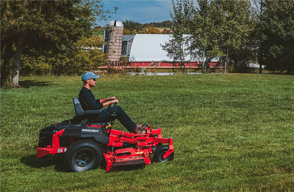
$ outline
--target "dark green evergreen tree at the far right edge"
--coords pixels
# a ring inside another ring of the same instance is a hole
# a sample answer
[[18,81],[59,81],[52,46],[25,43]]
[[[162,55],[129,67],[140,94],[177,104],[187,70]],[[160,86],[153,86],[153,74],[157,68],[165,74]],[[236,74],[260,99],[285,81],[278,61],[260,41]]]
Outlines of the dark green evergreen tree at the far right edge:
[[294,1],[264,1],[259,62],[270,71],[294,72]]

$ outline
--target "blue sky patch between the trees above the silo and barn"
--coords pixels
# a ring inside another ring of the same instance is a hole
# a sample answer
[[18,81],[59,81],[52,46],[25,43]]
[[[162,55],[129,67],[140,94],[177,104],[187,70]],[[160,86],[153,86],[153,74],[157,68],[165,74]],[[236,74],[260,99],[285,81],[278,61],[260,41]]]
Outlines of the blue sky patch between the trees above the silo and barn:
[[100,26],[106,25],[111,20],[125,20],[137,21],[139,23],[162,22],[164,20],[171,20],[169,11],[173,11],[172,1],[124,1],[124,0],[104,0],[104,10],[113,10],[113,7],[118,7],[116,14],[112,14],[107,21],[98,21]]

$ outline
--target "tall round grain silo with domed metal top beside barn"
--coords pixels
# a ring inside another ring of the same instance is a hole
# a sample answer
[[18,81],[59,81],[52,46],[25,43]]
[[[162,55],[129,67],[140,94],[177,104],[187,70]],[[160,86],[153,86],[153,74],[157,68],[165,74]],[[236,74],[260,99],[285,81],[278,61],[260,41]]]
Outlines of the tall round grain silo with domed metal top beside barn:
[[112,20],[108,23],[109,30],[105,30],[105,45],[103,51],[108,55],[111,62],[119,61],[121,58],[121,47],[123,43],[123,23]]

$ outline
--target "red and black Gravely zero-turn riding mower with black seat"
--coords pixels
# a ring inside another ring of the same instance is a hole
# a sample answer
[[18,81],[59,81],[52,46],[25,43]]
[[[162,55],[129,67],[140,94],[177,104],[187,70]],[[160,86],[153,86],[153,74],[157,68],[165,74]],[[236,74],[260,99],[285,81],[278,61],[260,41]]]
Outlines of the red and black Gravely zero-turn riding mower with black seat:
[[[64,153],[64,166],[72,172],[96,169],[103,157],[106,171],[121,165],[151,164],[149,155],[153,153],[154,162],[173,160],[173,139],[162,138],[161,128],[151,130],[147,126],[147,133],[139,135],[112,129],[113,121],[90,124],[88,119],[101,110],[84,111],[78,98],[73,100],[76,112],[73,119],[40,131],[38,158],[50,159],[57,153]],[[112,115],[116,115],[115,110]]]

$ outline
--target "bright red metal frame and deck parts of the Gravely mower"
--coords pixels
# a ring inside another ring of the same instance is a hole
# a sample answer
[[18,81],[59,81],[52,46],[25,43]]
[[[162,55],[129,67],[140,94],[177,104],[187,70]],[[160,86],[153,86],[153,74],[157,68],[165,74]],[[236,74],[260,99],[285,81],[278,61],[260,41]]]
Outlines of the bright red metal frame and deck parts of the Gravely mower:
[[[88,128],[94,130],[101,128],[97,125],[87,125]],[[106,171],[110,171],[112,167],[130,164],[151,164],[148,158],[153,153],[153,148],[159,143],[167,143],[169,149],[162,155],[163,159],[168,158],[173,153],[173,139],[162,138],[161,128],[151,130],[148,126],[147,133],[144,135],[118,131],[114,129],[106,130],[109,136],[109,142],[102,144],[102,153],[105,158]],[[64,153],[69,147],[61,147],[59,145],[59,138],[62,136],[65,128],[56,131],[52,135],[52,146],[48,145],[46,148],[37,148],[37,157],[49,156],[50,154]],[[110,134],[109,134],[110,131]],[[98,132],[98,131],[97,131]],[[71,138],[72,143],[74,138]],[[104,147],[103,147],[104,146]],[[124,148],[124,146],[126,146]]]

